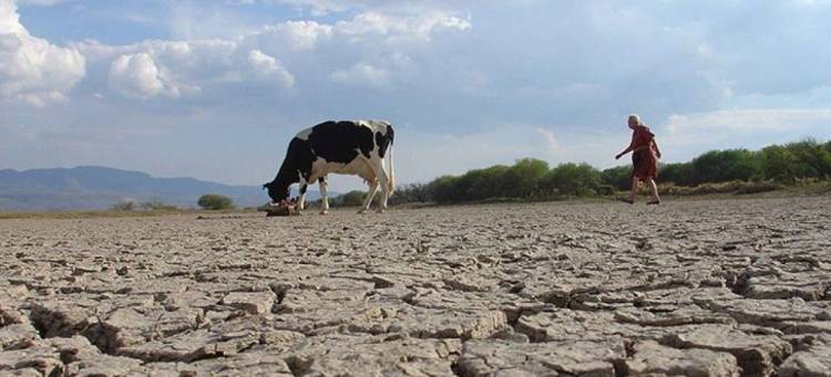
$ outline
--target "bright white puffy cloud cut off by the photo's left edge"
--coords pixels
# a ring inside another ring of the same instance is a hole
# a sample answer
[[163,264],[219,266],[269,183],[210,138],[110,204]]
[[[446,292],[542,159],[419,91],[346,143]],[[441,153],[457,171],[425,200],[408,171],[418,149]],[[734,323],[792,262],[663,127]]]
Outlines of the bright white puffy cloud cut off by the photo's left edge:
[[29,34],[14,2],[0,0],[0,100],[38,107],[65,101],[85,63],[79,51]]

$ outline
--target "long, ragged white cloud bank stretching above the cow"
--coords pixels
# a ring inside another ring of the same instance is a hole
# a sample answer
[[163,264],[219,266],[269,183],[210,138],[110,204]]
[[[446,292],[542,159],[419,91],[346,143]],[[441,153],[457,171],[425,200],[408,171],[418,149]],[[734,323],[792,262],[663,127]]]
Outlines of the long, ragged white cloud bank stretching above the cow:
[[[291,64],[304,77],[318,82],[317,77],[328,76],[339,85],[389,88],[396,77],[417,66],[399,51],[401,42],[429,43],[442,30],[469,28],[469,21],[439,11],[363,12],[328,24],[286,21],[228,39],[147,40],[131,45],[85,41],[76,48],[92,61],[109,62],[110,88],[130,98],[187,97],[228,84],[293,88],[301,77],[291,72]],[[322,43],[326,49],[318,49]],[[325,59],[310,62],[315,56]]]

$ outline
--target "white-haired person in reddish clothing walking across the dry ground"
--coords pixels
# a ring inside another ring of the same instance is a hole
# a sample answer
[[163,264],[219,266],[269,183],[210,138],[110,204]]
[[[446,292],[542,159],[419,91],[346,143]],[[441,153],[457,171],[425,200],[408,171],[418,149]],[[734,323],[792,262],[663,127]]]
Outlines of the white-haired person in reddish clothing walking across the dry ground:
[[632,171],[632,192],[624,201],[634,205],[640,182],[645,181],[653,190],[653,197],[646,203],[659,205],[660,197],[658,196],[658,186],[655,184],[655,178],[658,177],[660,150],[658,149],[658,144],[655,143],[655,134],[640,122],[640,117],[636,114],[629,115],[628,123],[629,128],[633,130],[632,143],[628,148],[615,156],[615,159],[619,159],[632,151],[632,164],[634,165],[634,170]]

